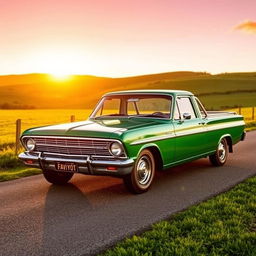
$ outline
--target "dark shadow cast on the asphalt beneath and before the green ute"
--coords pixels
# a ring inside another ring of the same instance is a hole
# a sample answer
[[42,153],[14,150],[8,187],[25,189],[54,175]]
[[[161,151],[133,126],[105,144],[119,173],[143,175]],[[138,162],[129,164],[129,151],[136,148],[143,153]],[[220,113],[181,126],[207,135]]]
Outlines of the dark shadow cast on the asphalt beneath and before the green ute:
[[[69,234],[81,232],[81,225],[85,225],[85,222],[98,211],[104,212],[104,209],[114,205],[125,209],[128,201],[138,207],[142,207],[143,204],[148,207],[149,197],[159,200],[166,191],[177,184],[180,185],[180,193],[184,193],[184,180],[195,173],[205,172],[206,168],[210,169],[209,167],[208,162],[202,159],[157,172],[150,191],[139,196],[130,194],[125,189],[122,179],[111,177],[76,175],[71,183],[65,186],[49,186],[43,214],[41,254],[51,251],[53,255],[60,255],[60,252],[55,251],[54,241],[58,240],[58,244],[63,243],[64,250],[65,246],[68,246]],[[78,223],[78,219],[82,219],[82,223]]]

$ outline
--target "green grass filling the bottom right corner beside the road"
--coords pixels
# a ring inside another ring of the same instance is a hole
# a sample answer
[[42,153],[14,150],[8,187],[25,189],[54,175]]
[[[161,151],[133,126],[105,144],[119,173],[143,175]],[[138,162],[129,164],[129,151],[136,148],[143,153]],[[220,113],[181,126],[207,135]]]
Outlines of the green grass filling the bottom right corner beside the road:
[[127,238],[104,256],[256,255],[256,177]]

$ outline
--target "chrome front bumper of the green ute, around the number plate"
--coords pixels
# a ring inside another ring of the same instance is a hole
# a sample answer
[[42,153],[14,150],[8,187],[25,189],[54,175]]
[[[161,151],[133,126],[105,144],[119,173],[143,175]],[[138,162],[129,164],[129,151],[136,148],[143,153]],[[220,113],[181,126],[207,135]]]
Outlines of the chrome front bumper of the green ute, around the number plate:
[[109,176],[127,175],[132,172],[134,165],[133,159],[92,159],[90,156],[28,151],[19,154],[19,159],[27,166],[53,171],[57,171],[56,163],[75,163],[78,173]]

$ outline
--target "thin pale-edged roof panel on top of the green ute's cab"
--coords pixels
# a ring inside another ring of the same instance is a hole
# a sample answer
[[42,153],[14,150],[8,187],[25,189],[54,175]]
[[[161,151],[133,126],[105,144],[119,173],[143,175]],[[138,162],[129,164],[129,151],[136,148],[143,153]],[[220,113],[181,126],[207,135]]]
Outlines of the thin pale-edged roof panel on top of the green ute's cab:
[[127,90],[106,93],[104,96],[111,95],[130,95],[130,94],[157,94],[157,95],[193,95],[189,91],[183,90]]

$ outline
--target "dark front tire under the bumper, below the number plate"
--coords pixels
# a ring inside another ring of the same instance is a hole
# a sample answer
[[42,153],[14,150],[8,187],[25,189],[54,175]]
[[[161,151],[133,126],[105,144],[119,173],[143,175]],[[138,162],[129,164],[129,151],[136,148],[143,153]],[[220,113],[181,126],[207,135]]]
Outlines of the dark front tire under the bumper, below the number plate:
[[58,171],[43,169],[43,175],[49,183],[56,184],[56,185],[64,185],[69,182],[69,180],[72,178],[74,173],[58,172]]

